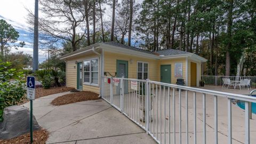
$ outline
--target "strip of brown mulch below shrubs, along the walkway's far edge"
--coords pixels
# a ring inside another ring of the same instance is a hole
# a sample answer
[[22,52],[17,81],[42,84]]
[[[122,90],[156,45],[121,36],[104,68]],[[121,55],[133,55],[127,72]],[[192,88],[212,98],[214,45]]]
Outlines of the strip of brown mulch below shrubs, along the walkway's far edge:
[[[50,94],[56,94],[56,93],[61,93],[61,92],[68,92],[68,91],[75,91],[73,87],[66,87],[66,86],[61,86],[61,87],[51,87],[50,89],[43,89],[43,87],[37,87],[36,88],[36,99],[45,97]],[[18,105],[23,105],[24,103],[28,102],[29,100],[27,97],[22,100]]]

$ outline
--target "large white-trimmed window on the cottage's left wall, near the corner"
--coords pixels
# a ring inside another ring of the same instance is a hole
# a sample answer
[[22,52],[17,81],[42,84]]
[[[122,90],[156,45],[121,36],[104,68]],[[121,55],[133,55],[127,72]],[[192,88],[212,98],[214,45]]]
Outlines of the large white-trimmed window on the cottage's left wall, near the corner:
[[84,61],[84,83],[99,84],[99,59]]

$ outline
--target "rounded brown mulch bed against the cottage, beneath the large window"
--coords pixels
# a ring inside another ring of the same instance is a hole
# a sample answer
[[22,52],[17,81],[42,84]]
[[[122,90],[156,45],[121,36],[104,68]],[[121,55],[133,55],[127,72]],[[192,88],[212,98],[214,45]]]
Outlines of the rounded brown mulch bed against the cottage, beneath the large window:
[[75,103],[86,100],[98,100],[99,94],[89,91],[81,91],[76,93],[65,94],[55,98],[51,104],[53,106],[67,105],[68,103]]

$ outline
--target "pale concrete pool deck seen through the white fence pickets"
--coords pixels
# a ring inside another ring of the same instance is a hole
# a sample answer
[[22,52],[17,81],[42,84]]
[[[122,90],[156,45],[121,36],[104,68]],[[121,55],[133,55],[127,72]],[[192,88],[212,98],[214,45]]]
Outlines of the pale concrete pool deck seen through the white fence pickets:
[[[239,90],[239,89],[226,89],[217,86],[205,86],[205,87],[198,87],[201,89],[208,89],[214,91],[222,91],[222,92],[229,92],[229,93],[236,93],[236,94],[248,94],[250,90]],[[155,113],[153,114],[153,110],[151,110],[151,116],[153,116],[153,122],[150,124],[150,130],[152,131],[157,137],[159,141],[164,143],[169,143],[169,137],[171,143],[173,141],[173,91],[170,90],[170,115],[169,115],[169,102],[168,102],[168,95],[167,89],[165,90],[165,96],[163,95],[163,91],[161,90],[161,98],[162,98],[162,105],[157,106],[158,114],[156,114],[156,104],[153,106]],[[135,94],[133,94],[135,95]],[[188,92],[188,141],[189,143],[194,143],[194,93]],[[131,100],[128,100],[127,103],[134,102],[136,97],[132,95],[126,95],[125,97],[131,97]],[[132,98],[133,97],[133,98]],[[156,100],[158,99],[158,100]],[[132,101],[133,100],[133,101]],[[154,101],[159,102],[159,97],[154,98]],[[164,101],[165,106],[164,108]],[[179,129],[179,92],[175,91],[175,141],[179,143],[186,143],[186,101],[185,101],[185,91],[181,92],[181,139],[179,137],[180,129]],[[153,104],[154,105],[154,104]],[[124,105],[125,107],[125,105]],[[135,106],[132,106],[134,109]],[[127,111],[133,111],[132,108],[128,108]],[[162,116],[159,114],[161,113],[159,109],[162,110]],[[232,142],[233,143],[245,143],[245,118],[244,118],[244,109],[239,108],[238,106],[232,103]],[[125,109],[124,109],[125,110]],[[166,111],[166,115],[164,117],[164,111]],[[134,118],[134,113],[130,113]],[[158,115],[158,116],[157,116]],[[139,115],[137,114],[137,117]],[[158,124],[154,124],[158,117]],[[159,124],[159,117],[161,118],[162,124]],[[136,120],[136,119],[135,119]],[[139,119],[137,119],[141,125],[145,123],[141,123]],[[165,123],[165,125],[164,125]],[[170,123],[170,131],[169,131],[169,123]],[[158,125],[158,132],[156,131],[156,126]],[[214,143],[214,97],[213,95],[206,94],[206,143]],[[154,128],[155,127],[155,128]],[[162,127],[162,130],[161,128]],[[164,131],[166,137],[164,139]],[[196,134],[197,134],[197,142],[196,143],[203,143],[203,97],[202,93],[196,93]],[[251,143],[256,143],[256,115],[252,115],[252,119],[250,119],[250,140]],[[218,142],[219,143],[228,143],[228,99],[226,97],[218,97]]]

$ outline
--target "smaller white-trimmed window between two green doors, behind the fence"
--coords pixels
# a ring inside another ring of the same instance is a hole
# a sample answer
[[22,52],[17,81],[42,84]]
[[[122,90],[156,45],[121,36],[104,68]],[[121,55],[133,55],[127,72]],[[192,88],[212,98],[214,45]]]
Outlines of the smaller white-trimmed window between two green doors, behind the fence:
[[147,62],[138,62],[137,78],[138,79],[147,79],[148,78],[148,63]]

